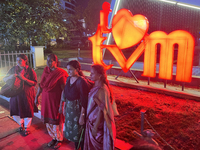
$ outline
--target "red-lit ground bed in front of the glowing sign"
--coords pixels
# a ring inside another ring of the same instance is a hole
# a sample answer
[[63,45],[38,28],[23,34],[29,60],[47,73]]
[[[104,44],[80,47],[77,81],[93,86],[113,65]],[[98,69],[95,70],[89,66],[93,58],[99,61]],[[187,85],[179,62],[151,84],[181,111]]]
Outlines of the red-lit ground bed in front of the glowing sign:
[[[132,143],[140,132],[140,110],[146,110],[146,119],[175,149],[199,149],[200,103],[163,94],[112,86],[119,117],[116,117],[117,138]],[[145,122],[144,129],[150,129]],[[155,135],[154,139],[166,149],[166,144]]]

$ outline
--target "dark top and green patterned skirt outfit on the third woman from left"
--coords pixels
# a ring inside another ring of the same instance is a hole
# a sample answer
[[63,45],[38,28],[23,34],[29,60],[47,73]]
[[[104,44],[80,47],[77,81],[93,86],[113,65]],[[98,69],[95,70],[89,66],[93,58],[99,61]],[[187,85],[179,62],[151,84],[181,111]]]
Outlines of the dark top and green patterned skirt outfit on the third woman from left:
[[81,135],[81,125],[79,125],[79,117],[81,108],[87,109],[88,85],[83,77],[79,77],[72,85],[70,85],[70,77],[68,77],[64,97],[66,102],[65,115],[65,137],[73,142],[78,142]]

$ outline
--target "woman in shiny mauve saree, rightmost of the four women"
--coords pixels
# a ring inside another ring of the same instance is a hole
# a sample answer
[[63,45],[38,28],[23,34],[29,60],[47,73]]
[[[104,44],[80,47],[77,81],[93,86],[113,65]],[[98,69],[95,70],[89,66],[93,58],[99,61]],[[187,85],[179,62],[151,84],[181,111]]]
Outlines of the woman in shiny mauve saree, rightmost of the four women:
[[104,67],[93,65],[90,77],[94,86],[88,96],[84,150],[113,150],[116,137],[113,94]]

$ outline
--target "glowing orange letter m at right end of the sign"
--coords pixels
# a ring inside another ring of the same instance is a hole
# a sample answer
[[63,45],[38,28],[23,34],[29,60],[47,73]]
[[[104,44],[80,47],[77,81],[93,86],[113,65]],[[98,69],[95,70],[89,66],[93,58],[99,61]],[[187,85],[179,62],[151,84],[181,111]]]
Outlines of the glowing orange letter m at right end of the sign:
[[178,59],[176,80],[190,82],[194,53],[194,39],[186,31],[177,30],[167,35],[162,31],[155,31],[146,37],[144,55],[144,76],[155,77],[156,45],[161,44],[159,78],[172,79],[173,47],[178,44]]

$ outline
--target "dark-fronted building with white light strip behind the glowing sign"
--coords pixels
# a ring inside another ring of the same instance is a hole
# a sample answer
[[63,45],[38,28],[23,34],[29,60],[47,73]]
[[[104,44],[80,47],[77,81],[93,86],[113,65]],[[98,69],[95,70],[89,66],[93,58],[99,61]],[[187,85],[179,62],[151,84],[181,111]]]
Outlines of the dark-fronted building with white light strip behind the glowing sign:
[[195,39],[200,38],[199,0],[112,0],[112,4],[112,13],[125,8],[133,15],[146,16],[149,20],[148,33],[186,30]]

